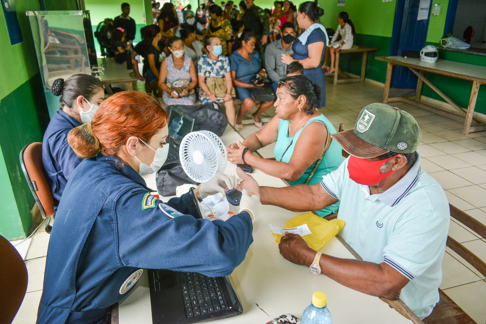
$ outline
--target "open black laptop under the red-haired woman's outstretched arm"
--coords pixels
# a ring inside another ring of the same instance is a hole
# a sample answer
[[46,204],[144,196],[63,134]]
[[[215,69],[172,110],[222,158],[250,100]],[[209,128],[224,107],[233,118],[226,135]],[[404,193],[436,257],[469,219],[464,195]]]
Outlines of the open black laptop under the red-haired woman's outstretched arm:
[[[190,193],[198,211],[196,218],[202,218],[192,188]],[[154,324],[201,323],[243,312],[229,277],[149,269],[149,286]]]

